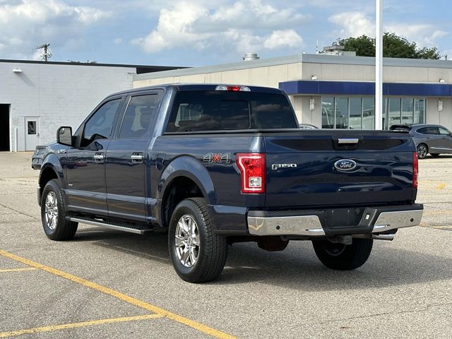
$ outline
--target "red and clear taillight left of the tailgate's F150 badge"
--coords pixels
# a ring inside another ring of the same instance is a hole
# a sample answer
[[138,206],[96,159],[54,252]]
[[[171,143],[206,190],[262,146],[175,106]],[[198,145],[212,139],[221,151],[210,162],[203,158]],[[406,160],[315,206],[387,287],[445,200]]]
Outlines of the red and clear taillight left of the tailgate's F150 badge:
[[261,153],[238,153],[235,162],[240,169],[242,193],[265,193],[266,155]]

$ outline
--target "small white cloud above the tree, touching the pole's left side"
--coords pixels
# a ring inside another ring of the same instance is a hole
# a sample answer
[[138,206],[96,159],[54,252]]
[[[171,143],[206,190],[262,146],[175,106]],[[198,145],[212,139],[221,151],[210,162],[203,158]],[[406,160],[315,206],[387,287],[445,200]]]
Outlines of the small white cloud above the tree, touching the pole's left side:
[[340,37],[375,36],[375,24],[370,16],[364,12],[343,12],[328,18],[330,23],[341,27]]

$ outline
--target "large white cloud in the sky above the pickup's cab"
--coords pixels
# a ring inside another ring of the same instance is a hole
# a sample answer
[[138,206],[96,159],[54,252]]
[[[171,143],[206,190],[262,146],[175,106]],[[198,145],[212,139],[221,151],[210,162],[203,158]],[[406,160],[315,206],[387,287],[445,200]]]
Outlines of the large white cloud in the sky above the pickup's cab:
[[181,48],[218,51],[226,46],[240,53],[298,48],[303,40],[293,27],[308,19],[295,9],[276,8],[261,0],[236,1],[215,9],[202,2],[179,2],[162,8],[157,27],[132,43],[147,53]]

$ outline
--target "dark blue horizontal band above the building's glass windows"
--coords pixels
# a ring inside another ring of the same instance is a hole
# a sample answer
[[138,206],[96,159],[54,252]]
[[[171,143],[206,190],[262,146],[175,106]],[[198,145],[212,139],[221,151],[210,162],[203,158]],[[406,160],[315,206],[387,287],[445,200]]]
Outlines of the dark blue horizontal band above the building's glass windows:
[[[280,90],[288,95],[375,95],[375,83],[364,81],[285,81]],[[383,83],[383,95],[452,97],[447,83]]]

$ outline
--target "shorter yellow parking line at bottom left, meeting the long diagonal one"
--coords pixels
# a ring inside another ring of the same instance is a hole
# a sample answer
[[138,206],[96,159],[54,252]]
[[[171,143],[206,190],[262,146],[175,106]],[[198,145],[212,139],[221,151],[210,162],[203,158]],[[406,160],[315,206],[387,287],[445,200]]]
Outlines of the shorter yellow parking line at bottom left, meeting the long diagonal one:
[[82,321],[81,323],[64,323],[61,325],[51,325],[44,327],[28,328],[26,330],[10,331],[10,332],[0,332],[0,338],[14,337],[16,335],[32,334],[38,332],[50,332],[65,330],[67,328],[78,328],[86,326],[103,325],[105,323],[123,323],[124,321],[137,321],[137,320],[147,320],[162,318],[161,314],[145,314],[144,316],[127,316],[124,318],[112,318],[112,319],[100,319],[92,321]]

